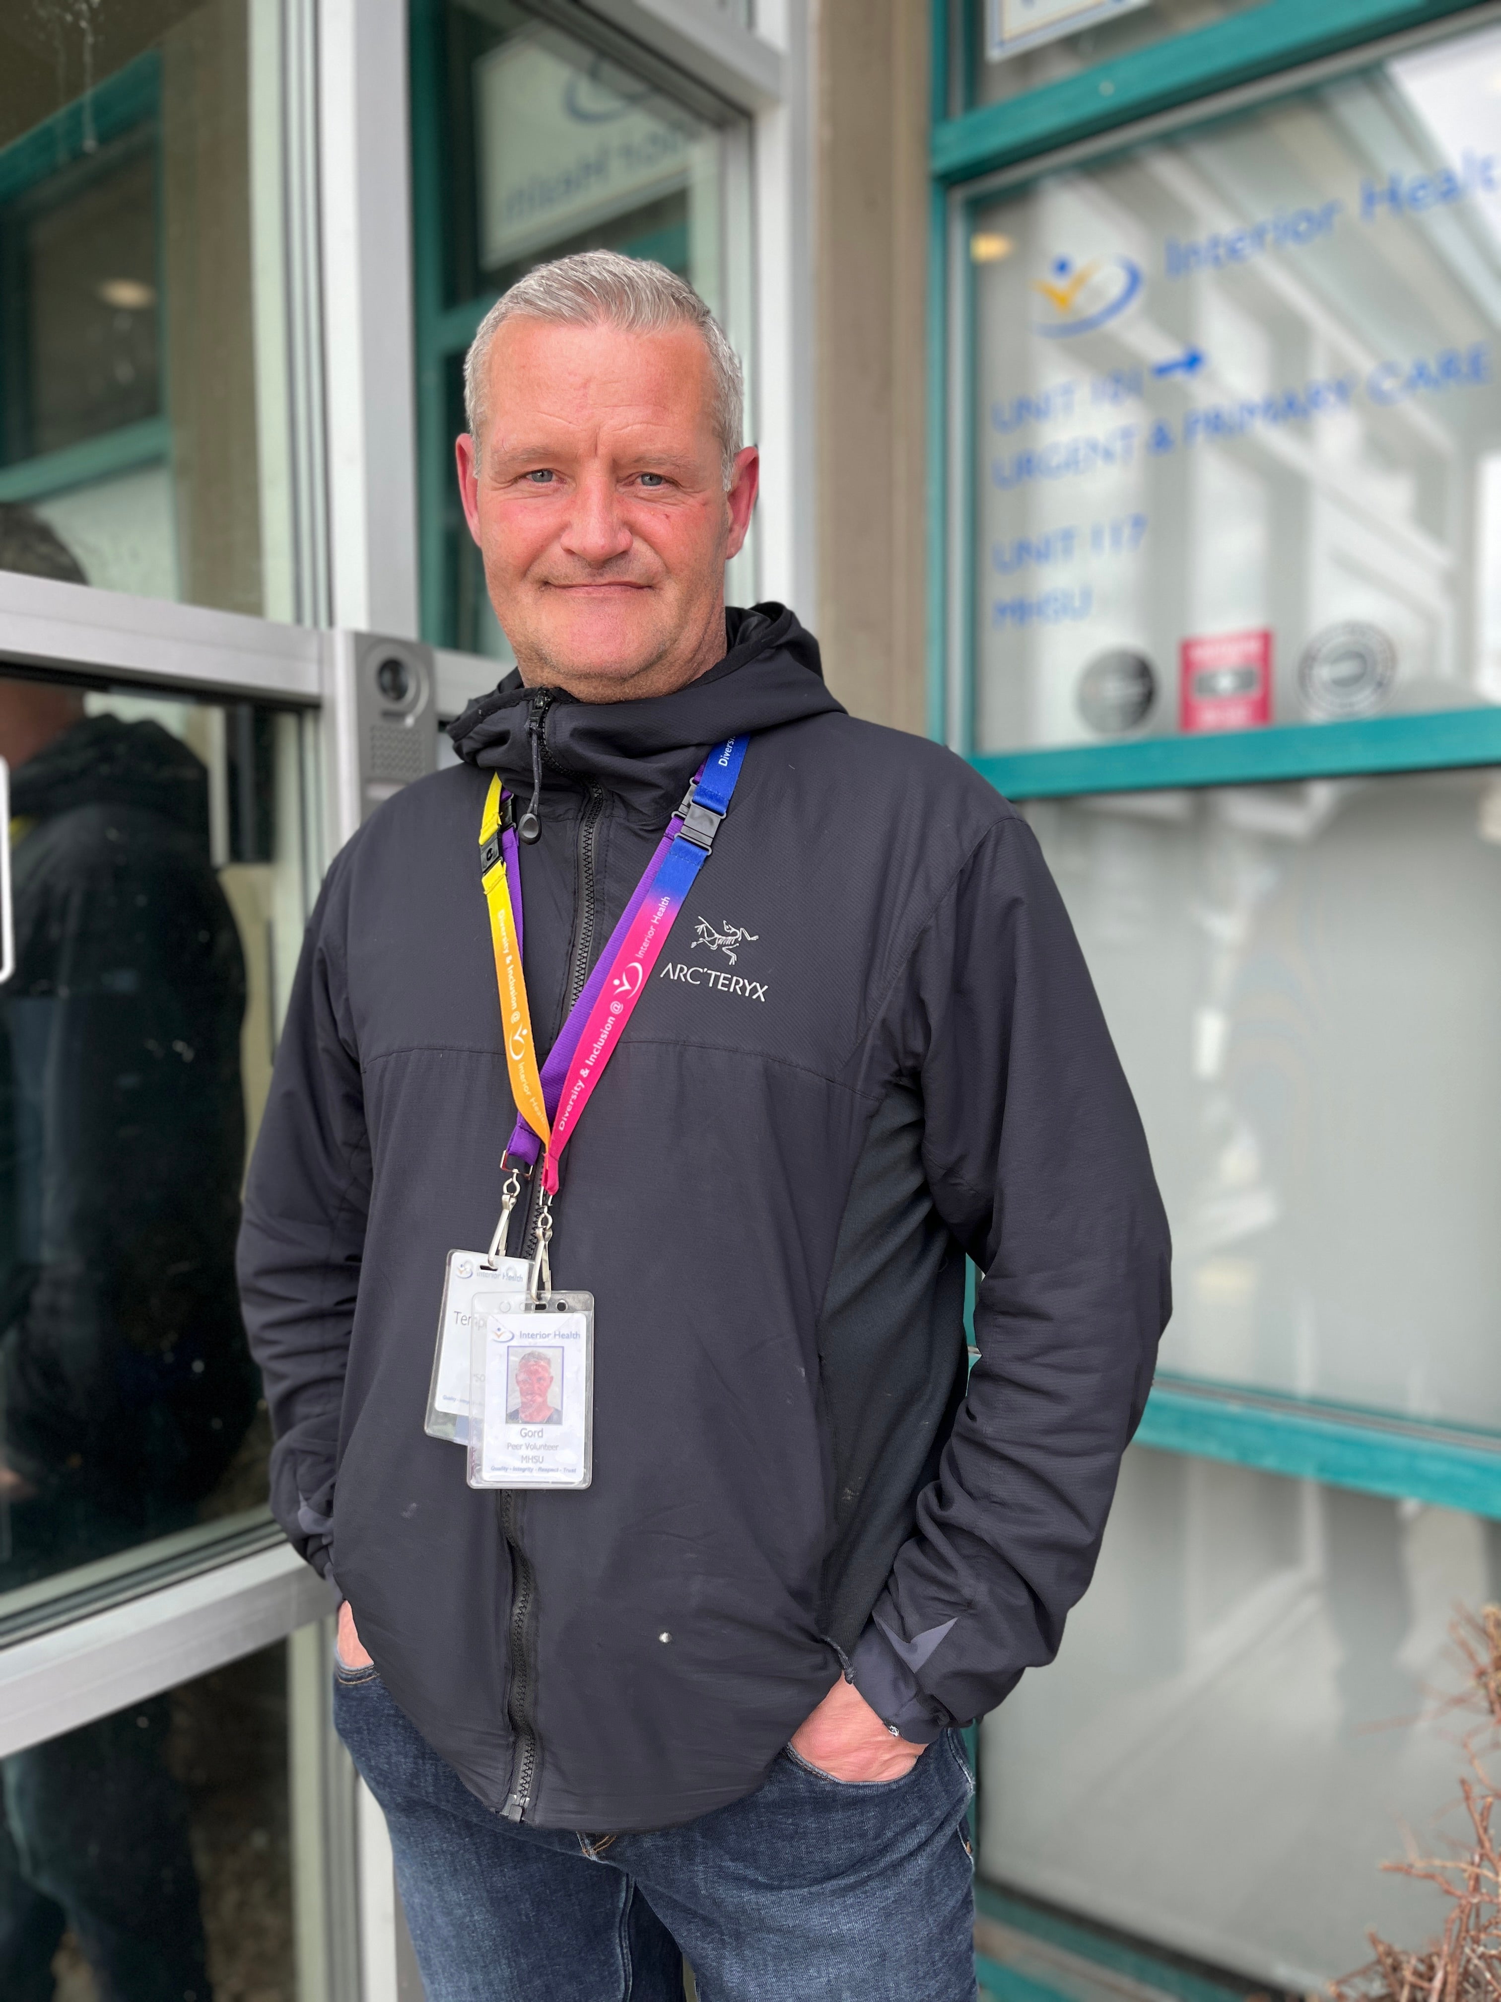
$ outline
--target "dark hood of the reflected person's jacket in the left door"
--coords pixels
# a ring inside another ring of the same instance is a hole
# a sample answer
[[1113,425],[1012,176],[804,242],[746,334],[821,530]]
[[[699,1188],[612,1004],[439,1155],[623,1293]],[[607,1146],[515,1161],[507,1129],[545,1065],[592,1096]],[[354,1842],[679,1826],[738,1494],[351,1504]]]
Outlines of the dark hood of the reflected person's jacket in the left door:
[[208,845],[208,773],[160,723],[86,717],[10,775],[10,811],[22,819],[78,807],[138,807]]

